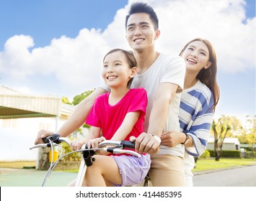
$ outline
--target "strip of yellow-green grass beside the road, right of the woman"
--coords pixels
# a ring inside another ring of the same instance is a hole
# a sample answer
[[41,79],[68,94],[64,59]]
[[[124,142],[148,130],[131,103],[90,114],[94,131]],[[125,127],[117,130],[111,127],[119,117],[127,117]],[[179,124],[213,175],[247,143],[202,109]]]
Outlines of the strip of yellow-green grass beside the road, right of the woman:
[[215,159],[198,159],[195,164],[195,169],[193,169],[193,172],[251,164],[256,165],[256,159],[220,159],[219,162],[216,162]]

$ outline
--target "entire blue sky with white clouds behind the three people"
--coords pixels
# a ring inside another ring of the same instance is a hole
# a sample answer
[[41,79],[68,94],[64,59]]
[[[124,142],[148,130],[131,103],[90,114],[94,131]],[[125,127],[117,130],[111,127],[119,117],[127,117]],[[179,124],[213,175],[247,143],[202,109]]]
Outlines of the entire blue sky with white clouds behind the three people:
[[[102,57],[128,49],[126,0],[0,0],[0,85],[69,97],[102,82]],[[178,55],[209,39],[218,57],[216,116],[255,115],[255,1],[148,0],[159,16],[160,52]]]

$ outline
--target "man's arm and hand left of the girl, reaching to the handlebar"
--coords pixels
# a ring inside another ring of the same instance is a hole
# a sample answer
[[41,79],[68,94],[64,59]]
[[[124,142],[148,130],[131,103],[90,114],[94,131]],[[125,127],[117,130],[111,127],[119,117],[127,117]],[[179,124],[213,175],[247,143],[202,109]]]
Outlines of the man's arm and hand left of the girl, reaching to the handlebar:
[[[83,125],[86,121],[89,111],[92,108],[95,98],[102,93],[107,91],[103,88],[96,88],[87,98],[81,101],[75,108],[74,112],[71,114],[70,118],[61,126],[58,130],[58,134],[61,136],[69,136],[71,133],[76,131],[77,128]],[[50,136],[53,132],[41,130],[37,134],[35,139],[35,144],[43,143],[42,138]]]

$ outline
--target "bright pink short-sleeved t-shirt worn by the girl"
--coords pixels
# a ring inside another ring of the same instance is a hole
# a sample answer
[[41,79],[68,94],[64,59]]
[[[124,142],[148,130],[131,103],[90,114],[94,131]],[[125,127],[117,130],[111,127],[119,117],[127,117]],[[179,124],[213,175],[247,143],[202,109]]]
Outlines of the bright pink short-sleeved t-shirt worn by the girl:
[[147,105],[146,90],[144,88],[130,89],[114,106],[110,106],[108,103],[109,95],[110,93],[104,93],[96,98],[86,123],[102,128],[102,136],[110,140],[123,123],[127,113],[141,111],[131,133],[124,140],[129,140],[130,136],[139,136],[144,131],[144,116]]

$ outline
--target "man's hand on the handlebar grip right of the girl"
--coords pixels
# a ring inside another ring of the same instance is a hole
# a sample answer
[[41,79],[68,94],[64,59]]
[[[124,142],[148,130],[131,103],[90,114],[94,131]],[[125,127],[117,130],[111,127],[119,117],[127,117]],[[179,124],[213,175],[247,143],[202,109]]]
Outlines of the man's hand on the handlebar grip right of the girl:
[[138,138],[131,136],[130,141],[135,142],[135,151],[138,153],[157,154],[159,151],[159,141],[149,134],[142,133]]

